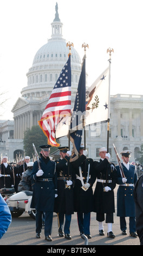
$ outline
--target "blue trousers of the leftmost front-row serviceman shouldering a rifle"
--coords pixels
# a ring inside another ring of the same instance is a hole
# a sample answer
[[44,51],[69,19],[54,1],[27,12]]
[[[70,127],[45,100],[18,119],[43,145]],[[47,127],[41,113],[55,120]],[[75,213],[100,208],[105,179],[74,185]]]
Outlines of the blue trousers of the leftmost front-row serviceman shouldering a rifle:
[[[44,234],[45,236],[51,235],[51,228],[53,223],[53,211],[46,211],[44,220]],[[42,229],[42,216],[43,211],[36,210],[36,233],[40,234]]]

